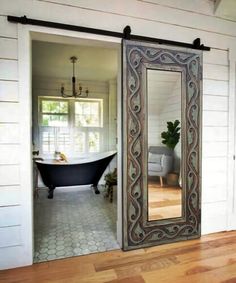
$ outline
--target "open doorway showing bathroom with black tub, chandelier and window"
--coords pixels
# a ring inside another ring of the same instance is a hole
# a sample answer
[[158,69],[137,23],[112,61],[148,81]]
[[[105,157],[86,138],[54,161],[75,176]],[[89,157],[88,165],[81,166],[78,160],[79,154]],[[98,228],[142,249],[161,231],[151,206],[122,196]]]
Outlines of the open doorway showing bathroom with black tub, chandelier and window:
[[119,44],[96,40],[32,41],[34,262],[120,248],[119,52]]

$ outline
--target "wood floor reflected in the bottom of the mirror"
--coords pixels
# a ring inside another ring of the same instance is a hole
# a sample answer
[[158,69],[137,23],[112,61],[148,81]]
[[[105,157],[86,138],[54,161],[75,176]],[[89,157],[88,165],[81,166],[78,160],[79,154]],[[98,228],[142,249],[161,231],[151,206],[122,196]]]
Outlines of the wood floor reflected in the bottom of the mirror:
[[181,217],[182,189],[159,182],[148,183],[148,220]]

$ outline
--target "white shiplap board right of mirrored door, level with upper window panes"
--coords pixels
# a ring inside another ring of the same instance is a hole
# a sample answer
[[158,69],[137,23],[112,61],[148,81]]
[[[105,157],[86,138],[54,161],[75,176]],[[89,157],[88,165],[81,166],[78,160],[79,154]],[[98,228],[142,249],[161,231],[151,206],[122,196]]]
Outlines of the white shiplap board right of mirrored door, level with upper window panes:
[[228,111],[228,97],[204,95],[203,110]]

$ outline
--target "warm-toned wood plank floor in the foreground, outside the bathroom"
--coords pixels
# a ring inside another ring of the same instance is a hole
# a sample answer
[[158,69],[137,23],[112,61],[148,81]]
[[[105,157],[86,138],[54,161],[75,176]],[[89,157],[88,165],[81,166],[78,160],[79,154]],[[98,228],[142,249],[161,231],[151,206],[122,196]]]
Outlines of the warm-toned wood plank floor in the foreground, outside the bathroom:
[[235,283],[236,231],[0,271],[0,282]]

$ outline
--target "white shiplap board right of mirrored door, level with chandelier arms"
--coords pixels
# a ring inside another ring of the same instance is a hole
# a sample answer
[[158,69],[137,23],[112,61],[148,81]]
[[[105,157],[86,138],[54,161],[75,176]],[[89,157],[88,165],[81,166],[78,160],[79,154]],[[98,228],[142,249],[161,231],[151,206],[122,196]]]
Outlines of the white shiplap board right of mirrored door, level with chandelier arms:
[[203,80],[203,93],[228,96],[228,81]]

